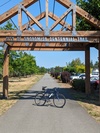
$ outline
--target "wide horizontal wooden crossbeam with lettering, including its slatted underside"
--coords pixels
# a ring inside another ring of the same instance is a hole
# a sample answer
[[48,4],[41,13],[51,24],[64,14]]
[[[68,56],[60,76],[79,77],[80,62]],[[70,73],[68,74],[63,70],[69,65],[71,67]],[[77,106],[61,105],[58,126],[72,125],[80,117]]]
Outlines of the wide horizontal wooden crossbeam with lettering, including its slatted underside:
[[0,42],[6,43],[11,50],[84,50],[87,44],[94,46],[100,43],[100,31],[50,31],[50,36],[44,36],[44,31],[23,31],[17,36],[14,30],[0,31]]

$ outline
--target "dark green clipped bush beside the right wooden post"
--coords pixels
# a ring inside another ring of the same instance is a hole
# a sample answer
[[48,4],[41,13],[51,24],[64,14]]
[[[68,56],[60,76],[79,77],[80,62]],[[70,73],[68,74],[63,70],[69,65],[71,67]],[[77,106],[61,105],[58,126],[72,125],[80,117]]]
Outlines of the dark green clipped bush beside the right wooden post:
[[85,92],[85,80],[83,80],[83,79],[74,79],[72,81],[72,87],[75,90]]

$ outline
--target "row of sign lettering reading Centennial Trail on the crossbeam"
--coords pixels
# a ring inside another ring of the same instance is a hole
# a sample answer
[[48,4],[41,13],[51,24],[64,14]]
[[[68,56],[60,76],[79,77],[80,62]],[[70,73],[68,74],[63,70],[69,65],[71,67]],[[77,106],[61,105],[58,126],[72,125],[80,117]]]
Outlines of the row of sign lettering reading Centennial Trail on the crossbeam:
[[17,36],[15,37],[6,37],[5,42],[89,42],[87,37],[33,37],[33,36]]

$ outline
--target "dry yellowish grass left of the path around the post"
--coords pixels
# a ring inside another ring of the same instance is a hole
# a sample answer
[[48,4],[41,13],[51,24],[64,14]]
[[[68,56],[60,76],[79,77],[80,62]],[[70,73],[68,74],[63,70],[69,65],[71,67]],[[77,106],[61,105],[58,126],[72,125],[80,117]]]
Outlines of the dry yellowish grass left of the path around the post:
[[0,115],[5,113],[14,105],[18,99],[38,82],[43,75],[33,75],[27,78],[10,78],[9,79],[9,97],[7,100],[2,99],[2,80],[0,81]]

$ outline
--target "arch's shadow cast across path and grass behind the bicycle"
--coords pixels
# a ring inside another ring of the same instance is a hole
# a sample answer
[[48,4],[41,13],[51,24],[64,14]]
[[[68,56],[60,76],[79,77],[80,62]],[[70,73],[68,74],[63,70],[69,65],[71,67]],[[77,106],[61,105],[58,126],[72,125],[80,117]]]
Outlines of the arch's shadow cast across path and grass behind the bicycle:
[[[52,91],[54,90],[54,88],[47,88],[48,91]],[[75,101],[83,101],[83,102],[86,102],[86,103],[93,103],[97,106],[100,106],[100,103],[98,101],[98,99],[95,99],[94,96],[88,96],[85,94],[85,93],[82,93],[82,92],[77,92],[71,88],[62,88],[62,87],[59,87],[57,88],[58,91],[60,93],[62,93],[66,100],[67,99],[70,99],[70,100],[75,100]],[[37,93],[41,92],[41,90],[37,91],[37,90],[23,90],[23,91],[12,91],[12,92],[9,92],[9,95],[10,97],[8,98],[8,100],[34,100],[35,99],[35,96]],[[0,99],[2,99],[2,94],[0,94]]]

